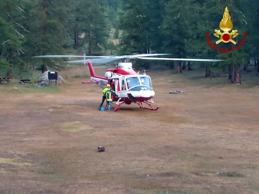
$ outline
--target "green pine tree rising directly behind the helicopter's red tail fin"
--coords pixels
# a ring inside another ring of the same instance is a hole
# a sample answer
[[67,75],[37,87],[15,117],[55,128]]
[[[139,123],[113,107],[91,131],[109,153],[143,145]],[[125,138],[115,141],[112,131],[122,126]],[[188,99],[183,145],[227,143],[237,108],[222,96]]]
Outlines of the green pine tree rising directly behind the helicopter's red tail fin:
[[[75,7],[75,48],[87,55],[104,52],[109,37],[110,25],[107,21],[107,2],[105,0],[80,0]],[[80,40],[79,36],[83,35]],[[79,43],[81,41],[81,43]]]

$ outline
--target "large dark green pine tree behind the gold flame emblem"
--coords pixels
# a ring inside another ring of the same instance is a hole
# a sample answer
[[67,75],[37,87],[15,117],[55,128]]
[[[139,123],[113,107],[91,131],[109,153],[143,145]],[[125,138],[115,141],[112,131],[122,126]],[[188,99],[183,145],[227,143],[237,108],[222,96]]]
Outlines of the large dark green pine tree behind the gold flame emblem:
[[[217,41],[219,38],[214,36],[215,29],[219,29],[219,23],[222,20],[222,15],[226,7],[228,7],[229,14],[231,16],[231,21],[233,23],[233,30],[238,29],[241,34],[237,37],[233,37],[232,40],[235,42],[239,42],[242,40],[242,32],[246,29],[246,22],[244,20],[243,13],[237,9],[236,5],[238,5],[238,1],[191,1],[191,4],[194,5],[194,11],[196,13],[195,18],[196,21],[193,21],[193,25],[189,31],[191,40],[188,44],[189,52],[195,53],[199,57],[209,56],[213,58],[213,56],[217,56],[217,58],[221,59],[228,59],[225,62],[220,62],[213,64],[214,67],[220,67],[222,69],[229,68],[229,74],[231,82],[241,83],[240,81],[240,74],[239,67],[240,61],[244,61],[243,59],[246,58],[245,56],[245,49],[239,50],[239,55],[235,53],[231,53],[231,48],[233,47],[233,43],[219,43],[217,45],[211,45],[211,42]],[[200,30],[200,31],[199,31]],[[209,32],[209,33],[208,33]],[[207,36],[205,35],[207,34]],[[204,36],[203,36],[204,35]],[[203,36],[203,37],[202,37]],[[207,44],[206,37],[207,37]],[[210,39],[211,38],[211,39]],[[208,42],[210,41],[210,42]],[[209,45],[210,44],[210,45]],[[213,47],[212,47],[213,46]],[[225,51],[229,51],[228,53],[220,53],[218,52],[219,48],[225,48]],[[238,57],[236,60],[235,57]],[[210,67],[211,64],[206,64],[206,68]],[[209,72],[206,70],[206,72]],[[232,74],[236,72],[235,74]],[[238,79],[235,79],[238,76]]]

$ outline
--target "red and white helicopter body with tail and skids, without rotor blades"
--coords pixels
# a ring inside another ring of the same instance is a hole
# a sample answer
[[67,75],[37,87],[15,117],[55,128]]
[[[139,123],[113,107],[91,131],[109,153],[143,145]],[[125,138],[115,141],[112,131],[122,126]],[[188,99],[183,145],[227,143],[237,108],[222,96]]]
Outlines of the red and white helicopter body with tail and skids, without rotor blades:
[[112,90],[116,96],[112,97],[112,101],[116,102],[118,106],[122,103],[131,104],[137,103],[141,108],[144,108],[142,102],[150,106],[149,109],[154,109],[150,103],[154,103],[152,98],[155,92],[152,88],[151,78],[149,75],[139,74],[134,68],[132,63],[120,62],[117,68],[107,69],[105,77],[96,76],[92,69],[92,65],[88,63],[91,77],[90,82],[83,83],[96,83],[100,87],[105,88],[107,84],[111,85]]

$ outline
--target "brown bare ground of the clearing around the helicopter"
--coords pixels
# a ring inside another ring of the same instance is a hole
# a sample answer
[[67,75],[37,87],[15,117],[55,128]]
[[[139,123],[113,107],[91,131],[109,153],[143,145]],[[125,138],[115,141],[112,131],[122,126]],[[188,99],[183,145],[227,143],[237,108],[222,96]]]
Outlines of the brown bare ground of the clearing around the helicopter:
[[259,88],[151,71],[157,111],[107,112],[80,73],[57,92],[0,85],[1,194],[259,193]]

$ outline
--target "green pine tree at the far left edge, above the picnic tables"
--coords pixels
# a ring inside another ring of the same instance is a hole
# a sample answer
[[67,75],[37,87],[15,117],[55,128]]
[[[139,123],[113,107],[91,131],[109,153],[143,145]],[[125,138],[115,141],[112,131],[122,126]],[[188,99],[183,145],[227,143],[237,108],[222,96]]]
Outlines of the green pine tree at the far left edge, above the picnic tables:
[[7,1],[0,3],[0,67],[7,69],[12,79],[12,70],[19,68],[24,54],[26,28],[23,26],[25,1]]

